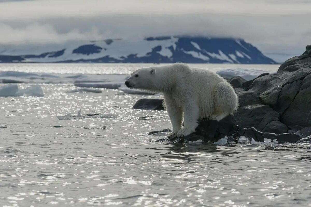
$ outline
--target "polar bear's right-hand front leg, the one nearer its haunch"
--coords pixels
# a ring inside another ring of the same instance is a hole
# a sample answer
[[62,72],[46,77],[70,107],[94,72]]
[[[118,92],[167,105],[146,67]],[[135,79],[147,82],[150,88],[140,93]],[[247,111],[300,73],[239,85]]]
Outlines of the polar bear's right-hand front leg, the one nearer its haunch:
[[184,125],[177,132],[177,136],[187,136],[197,128],[197,120],[199,118],[199,106],[194,101],[187,102],[183,107]]

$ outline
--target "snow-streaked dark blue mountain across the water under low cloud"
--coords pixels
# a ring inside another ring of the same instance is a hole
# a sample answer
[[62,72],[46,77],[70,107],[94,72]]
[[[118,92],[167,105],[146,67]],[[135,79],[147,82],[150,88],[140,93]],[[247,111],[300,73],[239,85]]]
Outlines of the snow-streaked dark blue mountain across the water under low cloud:
[[276,64],[242,39],[202,36],[108,39],[46,48],[0,46],[0,62]]

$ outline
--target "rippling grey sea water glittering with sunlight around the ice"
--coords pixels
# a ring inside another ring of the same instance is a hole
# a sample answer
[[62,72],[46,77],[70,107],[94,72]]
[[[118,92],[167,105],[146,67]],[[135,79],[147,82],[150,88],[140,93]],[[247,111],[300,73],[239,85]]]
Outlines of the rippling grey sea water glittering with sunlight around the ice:
[[[0,71],[48,73],[55,79],[98,74],[114,81],[112,74],[122,74],[117,77],[124,82],[128,74],[148,66],[0,64]],[[279,67],[191,66],[271,73]],[[156,143],[166,134],[148,133],[171,127],[166,111],[132,106],[160,95],[102,88],[101,93],[72,92],[77,87],[70,81],[35,80],[18,87],[39,84],[44,96],[0,97],[0,127],[7,125],[0,128],[0,206],[311,205],[310,144]]]

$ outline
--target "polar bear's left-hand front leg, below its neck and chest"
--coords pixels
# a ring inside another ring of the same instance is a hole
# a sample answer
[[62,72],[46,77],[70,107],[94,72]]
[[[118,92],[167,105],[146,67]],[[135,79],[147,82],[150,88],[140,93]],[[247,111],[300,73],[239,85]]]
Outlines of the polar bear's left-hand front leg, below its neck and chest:
[[167,136],[167,138],[171,140],[174,137],[176,137],[177,132],[181,129],[183,111],[170,98],[165,98],[165,108],[166,108],[167,113],[169,114],[169,118],[171,120],[172,127],[173,127],[172,132],[169,133]]

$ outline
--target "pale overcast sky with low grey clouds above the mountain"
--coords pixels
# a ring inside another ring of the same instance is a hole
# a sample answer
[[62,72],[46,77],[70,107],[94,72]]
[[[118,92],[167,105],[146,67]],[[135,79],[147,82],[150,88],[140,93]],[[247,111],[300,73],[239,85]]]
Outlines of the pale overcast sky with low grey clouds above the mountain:
[[0,0],[0,45],[188,34],[301,54],[311,44],[310,8],[311,0]]

